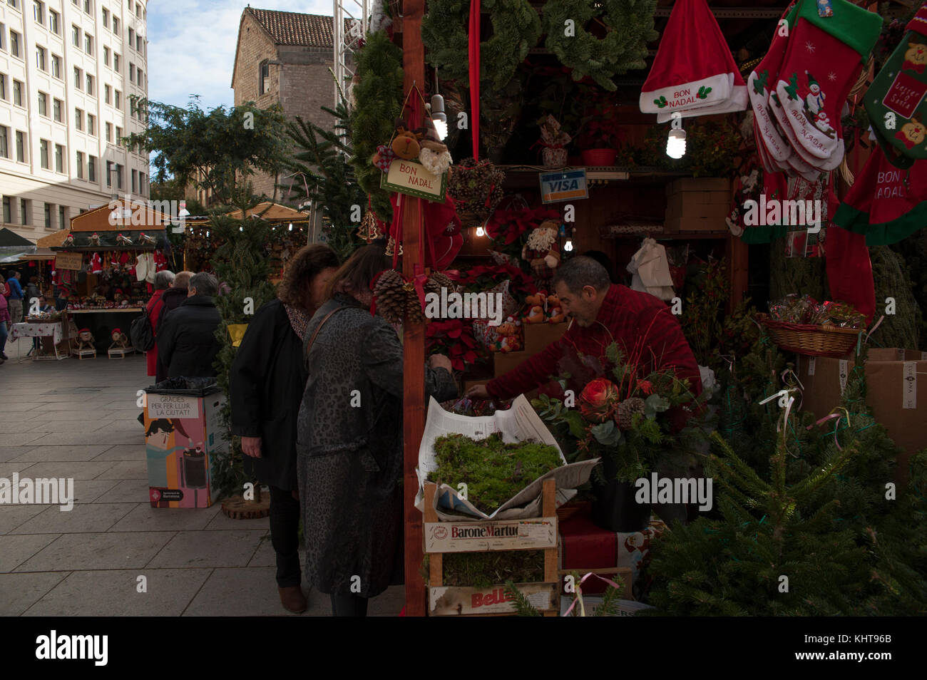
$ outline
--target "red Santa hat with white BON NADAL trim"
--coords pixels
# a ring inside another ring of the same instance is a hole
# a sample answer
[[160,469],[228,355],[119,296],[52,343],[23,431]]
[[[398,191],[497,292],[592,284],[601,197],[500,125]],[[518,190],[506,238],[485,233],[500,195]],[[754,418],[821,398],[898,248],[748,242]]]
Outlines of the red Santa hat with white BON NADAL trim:
[[641,112],[662,123],[677,111],[687,118],[746,107],[746,83],[715,15],[705,0],[676,0],[643,83]]

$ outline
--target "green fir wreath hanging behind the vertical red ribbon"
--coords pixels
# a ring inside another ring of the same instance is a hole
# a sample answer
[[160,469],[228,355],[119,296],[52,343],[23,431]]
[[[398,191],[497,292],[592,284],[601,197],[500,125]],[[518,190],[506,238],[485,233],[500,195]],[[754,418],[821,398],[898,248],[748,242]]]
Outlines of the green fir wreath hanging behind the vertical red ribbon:
[[[480,6],[492,17],[492,36],[479,44],[479,77],[489,80],[493,89],[502,90],[528,50],[538,44],[540,19],[527,0],[482,0]],[[428,13],[422,19],[422,42],[427,49],[425,58],[442,78],[467,82],[469,14],[468,0],[428,3]]]

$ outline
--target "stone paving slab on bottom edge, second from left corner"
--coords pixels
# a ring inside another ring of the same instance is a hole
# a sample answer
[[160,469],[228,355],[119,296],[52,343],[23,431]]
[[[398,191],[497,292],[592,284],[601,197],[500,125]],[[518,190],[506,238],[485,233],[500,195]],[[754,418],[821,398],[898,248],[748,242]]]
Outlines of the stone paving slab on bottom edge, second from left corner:
[[[210,569],[72,572],[24,616],[180,616]],[[139,582],[139,576],[145,576]],[[146,592],[138,592],[143,586]]]

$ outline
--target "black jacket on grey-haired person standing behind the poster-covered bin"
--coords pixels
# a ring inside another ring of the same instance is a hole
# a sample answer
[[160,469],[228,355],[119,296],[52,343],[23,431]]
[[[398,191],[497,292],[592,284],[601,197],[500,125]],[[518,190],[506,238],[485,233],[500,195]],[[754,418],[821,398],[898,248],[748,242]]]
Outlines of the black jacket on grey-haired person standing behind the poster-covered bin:
[[163,319],[158,335],[158,356],[167,367],[167,377],[215,376],[212,364],[221,348],[216,339],[220,318],[212,298],[187,297]]

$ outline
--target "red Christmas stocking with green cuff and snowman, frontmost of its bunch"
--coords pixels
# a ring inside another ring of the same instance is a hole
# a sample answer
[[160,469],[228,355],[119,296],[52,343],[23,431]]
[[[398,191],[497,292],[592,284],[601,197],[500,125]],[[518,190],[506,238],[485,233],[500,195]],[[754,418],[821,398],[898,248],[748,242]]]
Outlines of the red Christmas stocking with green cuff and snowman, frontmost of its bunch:
[[[776,94],[798,144],[822,159],[843,157],[840,111],[882,29],[882,17],[847,0],[802,0]],[[821,16],[831,13],[832,16]]]

